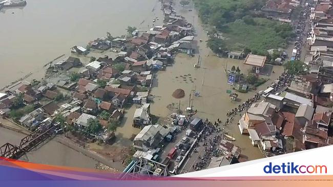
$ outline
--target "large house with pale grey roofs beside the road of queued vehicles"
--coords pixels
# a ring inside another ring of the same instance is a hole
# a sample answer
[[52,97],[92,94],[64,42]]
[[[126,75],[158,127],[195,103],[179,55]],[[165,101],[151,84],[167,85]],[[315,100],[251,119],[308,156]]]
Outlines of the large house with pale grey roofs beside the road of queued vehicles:
[[148,125],[135,136],[133,147],[136,150],[148,151],[155,149],[169,134],[169,130],[161,125]]

